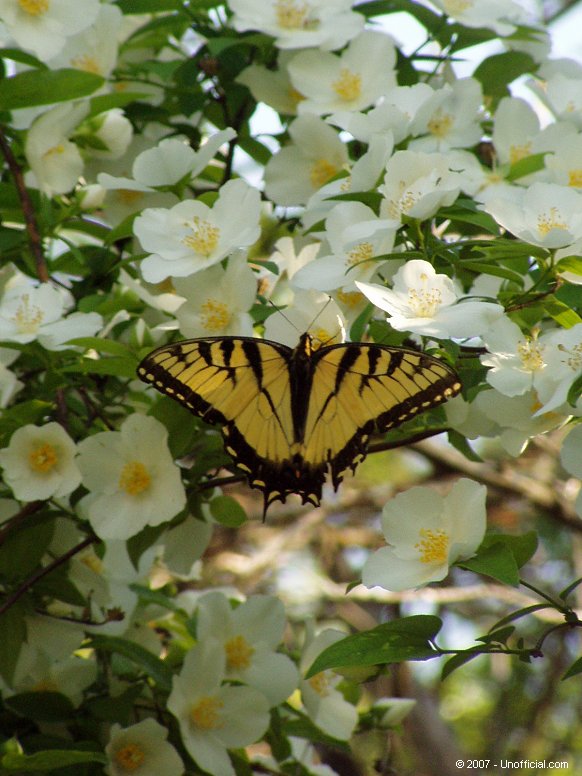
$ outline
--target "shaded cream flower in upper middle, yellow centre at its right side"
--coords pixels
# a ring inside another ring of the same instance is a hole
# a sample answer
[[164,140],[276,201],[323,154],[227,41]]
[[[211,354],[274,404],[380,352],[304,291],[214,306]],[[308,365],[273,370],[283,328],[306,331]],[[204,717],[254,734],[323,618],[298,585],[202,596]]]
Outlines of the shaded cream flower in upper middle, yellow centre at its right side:
[[303,205],[348,163],[335,130],[316,116],[300,116],[289,127],[291,144],[265,167],[265,193],[278,205]]

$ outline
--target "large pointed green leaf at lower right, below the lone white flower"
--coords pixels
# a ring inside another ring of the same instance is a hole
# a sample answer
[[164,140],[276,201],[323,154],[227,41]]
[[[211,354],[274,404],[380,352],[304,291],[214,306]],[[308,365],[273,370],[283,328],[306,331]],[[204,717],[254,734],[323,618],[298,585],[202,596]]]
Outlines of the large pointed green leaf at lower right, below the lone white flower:
[[430,644],[442,626],[439,617],[418,614],[387,622],[364,633],[356,633],[332,644],[315,660],[308,679],[328,668],[428,660],[439,653]]

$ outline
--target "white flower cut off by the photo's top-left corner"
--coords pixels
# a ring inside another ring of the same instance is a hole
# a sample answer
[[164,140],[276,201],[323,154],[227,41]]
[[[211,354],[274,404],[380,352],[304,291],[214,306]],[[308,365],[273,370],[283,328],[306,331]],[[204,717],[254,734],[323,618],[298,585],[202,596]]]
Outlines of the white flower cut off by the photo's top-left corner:
[[93,24],[99,0],[0,0],[0,19],[26,51],[46,60]]

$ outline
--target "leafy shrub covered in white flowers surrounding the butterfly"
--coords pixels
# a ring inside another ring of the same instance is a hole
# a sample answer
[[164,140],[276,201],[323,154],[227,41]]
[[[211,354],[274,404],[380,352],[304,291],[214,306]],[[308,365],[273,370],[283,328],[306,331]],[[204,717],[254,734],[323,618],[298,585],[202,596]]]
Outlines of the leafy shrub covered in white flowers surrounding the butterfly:
[[[461,759],[566,756],[582,65],[517,0],[0,0],[0,20],[2,773],[441,774],[421,661],[451,677]],[[136,366],[304,331],[428,351],[462,395],[261,524],[216,428]]]

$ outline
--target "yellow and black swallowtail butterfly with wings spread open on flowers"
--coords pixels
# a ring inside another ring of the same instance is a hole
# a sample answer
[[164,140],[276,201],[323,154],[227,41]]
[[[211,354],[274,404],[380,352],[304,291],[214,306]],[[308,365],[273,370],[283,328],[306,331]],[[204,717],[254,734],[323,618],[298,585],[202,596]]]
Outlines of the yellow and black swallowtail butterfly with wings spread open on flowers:
[[455,396],[457,374],[405,348],[350,342],[295,348],[254,337],[184,340],[154,350],[138,377],[221,427],[226,452],[264,513],[290,493],[319,506],[328,469],[337,490],[370,436]]

